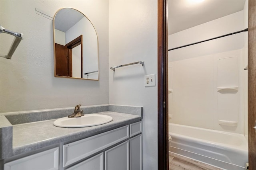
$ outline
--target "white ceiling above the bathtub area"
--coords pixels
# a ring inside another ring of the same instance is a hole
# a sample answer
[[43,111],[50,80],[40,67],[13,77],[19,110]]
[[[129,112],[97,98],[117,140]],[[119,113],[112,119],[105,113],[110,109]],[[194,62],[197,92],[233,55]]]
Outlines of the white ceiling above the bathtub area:
[[169,0],[168,35],[241,11],[244,3],[245,0]]

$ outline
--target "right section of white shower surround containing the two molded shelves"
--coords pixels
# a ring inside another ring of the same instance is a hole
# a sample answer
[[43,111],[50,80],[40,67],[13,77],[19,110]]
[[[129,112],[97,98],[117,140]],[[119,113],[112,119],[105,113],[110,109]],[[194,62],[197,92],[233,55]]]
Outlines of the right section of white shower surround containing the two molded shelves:
[[216,130],[244,133],[243,65],[243,49],[215,55]]

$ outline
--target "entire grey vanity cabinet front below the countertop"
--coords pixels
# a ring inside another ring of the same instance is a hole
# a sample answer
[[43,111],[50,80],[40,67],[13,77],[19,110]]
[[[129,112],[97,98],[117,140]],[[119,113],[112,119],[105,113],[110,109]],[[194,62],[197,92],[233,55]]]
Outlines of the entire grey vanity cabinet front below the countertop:
[[141,132],[141,121],[132,123],[7,162],[4,170],[142,170]]

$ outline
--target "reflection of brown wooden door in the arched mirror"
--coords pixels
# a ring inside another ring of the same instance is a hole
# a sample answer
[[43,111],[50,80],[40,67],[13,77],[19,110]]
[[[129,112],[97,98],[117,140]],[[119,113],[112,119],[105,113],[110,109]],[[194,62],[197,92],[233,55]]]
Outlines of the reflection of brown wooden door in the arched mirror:
[[56,75],[72,77],[72,59],[68,57],[68,48],[55,43]]

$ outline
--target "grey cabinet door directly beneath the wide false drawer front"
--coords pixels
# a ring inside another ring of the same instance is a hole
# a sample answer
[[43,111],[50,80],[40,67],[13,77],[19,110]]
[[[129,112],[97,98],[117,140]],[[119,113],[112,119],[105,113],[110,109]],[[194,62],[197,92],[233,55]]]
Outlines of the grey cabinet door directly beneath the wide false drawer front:
[[103,152],[89,158],[67,170],[103,170]]

